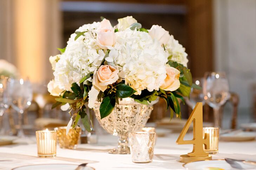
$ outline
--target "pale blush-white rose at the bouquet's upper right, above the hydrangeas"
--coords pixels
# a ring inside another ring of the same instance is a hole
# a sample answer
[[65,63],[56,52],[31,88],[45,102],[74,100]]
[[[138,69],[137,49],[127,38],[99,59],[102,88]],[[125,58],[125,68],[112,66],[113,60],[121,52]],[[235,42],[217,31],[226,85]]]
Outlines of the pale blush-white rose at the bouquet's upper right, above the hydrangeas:
[[169,31],[166,31],[162,26],[153,25],[149,30],[149,35],[154,39],[157,39],[160,44],[166,45],[170,39]]

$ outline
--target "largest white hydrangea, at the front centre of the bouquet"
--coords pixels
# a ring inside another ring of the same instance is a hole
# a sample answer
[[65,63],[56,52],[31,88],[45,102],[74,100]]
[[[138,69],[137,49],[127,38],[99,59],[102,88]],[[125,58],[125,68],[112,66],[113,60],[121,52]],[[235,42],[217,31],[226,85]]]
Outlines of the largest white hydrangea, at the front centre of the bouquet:
[[119,66],[125,83],[135,89],[136,94],[144,89],[159,90],[164,83],[168,59],[160,43],[146,32],[130,29],[116,32],[116,45],[109,57]]

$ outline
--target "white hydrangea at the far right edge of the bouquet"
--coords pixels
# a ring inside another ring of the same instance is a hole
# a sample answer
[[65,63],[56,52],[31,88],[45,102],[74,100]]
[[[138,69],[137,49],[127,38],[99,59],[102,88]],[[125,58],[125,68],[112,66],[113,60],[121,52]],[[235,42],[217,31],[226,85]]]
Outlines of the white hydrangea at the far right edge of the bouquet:
[[176,61],[177,63],[183,64],[183,66],[187,67],[188,54],[185,52],[185,48],[179,44],[178,40],[175,40],[173,38],[173,35],[171,35],[168,43],[165,45],[165,49],[167,52],[168,57],[172,61]]

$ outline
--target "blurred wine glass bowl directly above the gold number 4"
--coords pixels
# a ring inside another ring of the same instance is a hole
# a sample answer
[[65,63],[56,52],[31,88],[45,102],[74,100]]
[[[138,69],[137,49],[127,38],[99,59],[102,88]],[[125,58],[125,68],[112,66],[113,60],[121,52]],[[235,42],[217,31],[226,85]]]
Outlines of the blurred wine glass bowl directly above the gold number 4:
[[186,103],[191,107],[191,109],[194,109],[197,102],[202,102],[203,106],[205,104],[204,100],[204,94],[203,94],[203,78],[194,78],[193,83],[197,86],[201,87],[201,89],[197,89],[192,87],[189,97],[185,97]]

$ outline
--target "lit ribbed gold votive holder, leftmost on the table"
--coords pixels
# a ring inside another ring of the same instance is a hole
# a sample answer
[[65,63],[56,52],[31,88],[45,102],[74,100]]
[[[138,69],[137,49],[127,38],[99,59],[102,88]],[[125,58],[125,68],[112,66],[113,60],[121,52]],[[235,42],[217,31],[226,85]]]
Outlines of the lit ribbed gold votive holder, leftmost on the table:
[[38,157],[55,157],[57,148],[57,132],[55,130],[39,130],[35,132],[37,137]]

